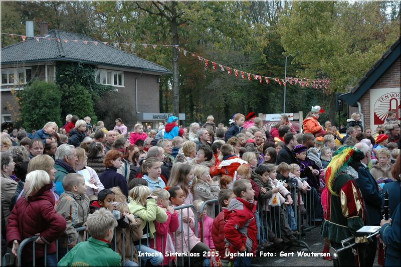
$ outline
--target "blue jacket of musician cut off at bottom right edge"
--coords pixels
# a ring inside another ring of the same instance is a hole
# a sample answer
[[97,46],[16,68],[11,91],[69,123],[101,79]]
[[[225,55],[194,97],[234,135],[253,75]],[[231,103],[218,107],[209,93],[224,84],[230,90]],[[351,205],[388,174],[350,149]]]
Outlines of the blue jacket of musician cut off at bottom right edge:
[[380,238],[386,244],[384,266],[399,266],[401,263],[401,204],[398,203],[391,216],[391,225],[381,226]]

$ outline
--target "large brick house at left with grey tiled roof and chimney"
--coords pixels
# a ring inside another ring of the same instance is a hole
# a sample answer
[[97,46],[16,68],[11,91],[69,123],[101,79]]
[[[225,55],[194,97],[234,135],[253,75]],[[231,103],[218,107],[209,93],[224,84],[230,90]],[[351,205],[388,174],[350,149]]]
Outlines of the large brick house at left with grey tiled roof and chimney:
[[159,119],[145,120],[143,114],[160,114],[159,80],[161,75],[171,74],[168,69],[89,36],[48,31],[47,24],[44,29],[42,26],[40,35],[2,48],[2,123],[15,121],[19,116],[12,91],[24,90],[35,78],[55,82],[57,74],[63,75],[57,71],[58,64],[80,62],[96,69],[96,83],[114,87],[112,97],[105,101],[110,109],[123,107],[123,112],[101,118],[106,126],[114,126],[117,117],[122,118],[129,129],[136,121],[157,126]]

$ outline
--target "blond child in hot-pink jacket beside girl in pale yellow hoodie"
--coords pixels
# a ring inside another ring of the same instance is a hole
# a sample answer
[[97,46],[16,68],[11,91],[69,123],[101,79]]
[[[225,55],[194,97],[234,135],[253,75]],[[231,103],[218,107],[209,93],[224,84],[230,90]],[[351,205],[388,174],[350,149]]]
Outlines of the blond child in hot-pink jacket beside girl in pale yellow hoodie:
[[[165,251],[169,251],[170,248],[167,246],[173,244],[169,231],[175,232],[177,230],[179,226],[178,213],[171,206],[168,205],[169,204],[168,198],[170,197],[170,194],[168,193],[167,190],[156,188],[155,190],[153,190],[152,196],[157,197],[156,203],[160,208],[165,210],[167,214],[167,220],[163,223],[155,221],[156,247],[154,247],[153,238],[150,238],[149,246],[153,249],[156,249],[157,251],[162,252],[164,255],[163,265],[169,265],[169,261],[171,261],[172,258],[166,256]],[[161,243],[162,241],[163,244]]]

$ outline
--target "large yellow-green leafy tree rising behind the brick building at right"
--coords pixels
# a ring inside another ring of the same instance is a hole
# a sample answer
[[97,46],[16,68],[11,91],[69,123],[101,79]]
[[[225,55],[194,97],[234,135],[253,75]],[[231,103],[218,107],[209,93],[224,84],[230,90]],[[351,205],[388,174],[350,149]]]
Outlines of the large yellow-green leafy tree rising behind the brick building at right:
[[399,38],[399,9],[398,16],[387,17],[380,5],[293,2],[281,15],[281,44],[293,63],[301,64],[298,76],[331,80],[321,99],[330,120],[335,118],[334,93],[349,91]]

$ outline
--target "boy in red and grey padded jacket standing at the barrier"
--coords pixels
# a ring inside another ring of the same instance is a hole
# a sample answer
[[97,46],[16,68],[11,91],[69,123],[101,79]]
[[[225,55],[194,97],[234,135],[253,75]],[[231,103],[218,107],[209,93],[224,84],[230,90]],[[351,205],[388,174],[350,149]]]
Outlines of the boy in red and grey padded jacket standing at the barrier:
[[255,191],[249,180],[240,179],[234,182],[233,192],[237,197],[224,211],[225,258],[234,261],[234,267],[251,266],[258,248]]

